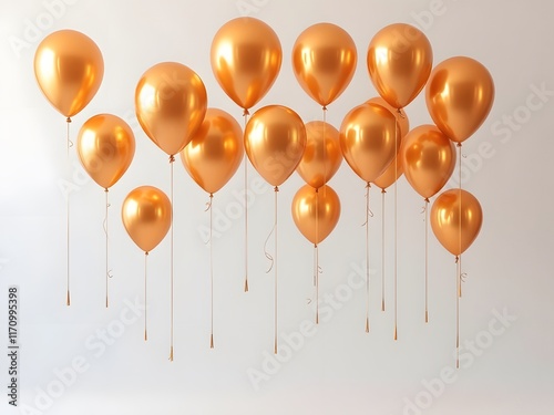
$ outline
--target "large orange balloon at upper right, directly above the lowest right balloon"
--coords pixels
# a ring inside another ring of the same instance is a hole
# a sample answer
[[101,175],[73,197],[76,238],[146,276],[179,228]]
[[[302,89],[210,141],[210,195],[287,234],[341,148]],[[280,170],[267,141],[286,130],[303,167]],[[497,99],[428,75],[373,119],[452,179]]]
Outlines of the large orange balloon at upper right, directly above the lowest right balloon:
[[481,63],[466,56],[437,65],[425,89],[425,102],[437,126],[462,143],[483,124],[494,102],[494,82]]

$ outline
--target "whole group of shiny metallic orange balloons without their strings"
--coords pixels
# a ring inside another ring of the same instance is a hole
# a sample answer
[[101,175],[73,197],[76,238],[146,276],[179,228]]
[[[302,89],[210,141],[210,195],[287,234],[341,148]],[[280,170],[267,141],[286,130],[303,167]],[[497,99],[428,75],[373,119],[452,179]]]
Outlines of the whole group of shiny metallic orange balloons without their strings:
[[[369,77],[380,96],[353,107],[339,129],[325,121],[305,124],[283,105],[267,105],[250,115],[277,79],[283,51],[269,25],[238,18],[215,34],[211,64],[223,91],[244,110],[244,132],[227,112],[207,107],[201,77],[176,62],[158,63],[142,75],[135,111],[143,131],[170,162],[179,155],[186,172],[212,196],[233,177],[245,153],[276,189],[298,172],[306,185],[294,197],[293,217],[301,234],[317,245],[340,216],[339,198],[327,181],[342,158],[365,183],[382,189],[404,173],[425,200],[452,175],[453,143],[461,145],[483,123],[494,85],[488,70],[473,59],[451,58],[434,69],[432,59],[431,44],[421,31],[391,24],[372,38],[367,51]],[[350,83],[356,65],[353,40],[331,23],[307,28],[293,48],[296,79],[324,114]],[[42,92],[68,122],[95,95],[103,71],[96,44],[73,30],[49,34],[34,58]],[[425,85],[434,125],[409,131],[403,108]],[[106,191],[125,173],[134,151],[131,128],[115,115],[95,115],[79,132],[79,157]],[[122,217],[131,238],[147,252],[167,232],[172,207],[163,191],[143,186],[127,195]],[[472,243],[481,220],[479,201],[468,191],[445,191],[433,204],[433,231],[453,255]]]

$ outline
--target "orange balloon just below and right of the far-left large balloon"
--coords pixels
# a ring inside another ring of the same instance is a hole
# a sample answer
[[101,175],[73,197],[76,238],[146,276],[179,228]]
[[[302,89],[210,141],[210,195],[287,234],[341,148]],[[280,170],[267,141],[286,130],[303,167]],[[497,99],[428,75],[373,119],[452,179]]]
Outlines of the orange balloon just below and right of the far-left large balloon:
[[79,159],[100,186],[112,187],[127,170],[135,154],[135,137],[119,116],[99,114],[89,118],[76,139]]

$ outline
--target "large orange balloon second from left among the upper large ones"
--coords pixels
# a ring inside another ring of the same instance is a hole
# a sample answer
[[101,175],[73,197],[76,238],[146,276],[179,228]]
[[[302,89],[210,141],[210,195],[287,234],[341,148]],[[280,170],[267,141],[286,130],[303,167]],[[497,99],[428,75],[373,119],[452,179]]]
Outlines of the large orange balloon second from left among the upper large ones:
[[201,77],[176,62],[148,69],[135,91],[136,117],[146,135],[166,154],[181,152],[199,128],[207,107]]

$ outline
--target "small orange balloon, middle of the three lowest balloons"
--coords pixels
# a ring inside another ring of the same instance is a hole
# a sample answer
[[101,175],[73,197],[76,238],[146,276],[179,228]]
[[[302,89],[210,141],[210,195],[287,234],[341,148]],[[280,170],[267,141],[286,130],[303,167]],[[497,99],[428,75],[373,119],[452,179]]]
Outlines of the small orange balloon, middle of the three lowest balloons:
[[304,185],[293,198],[293,219],[300,232],[314,245],[329,236],[339,217],[340,199],[327,185],[320,189]]

